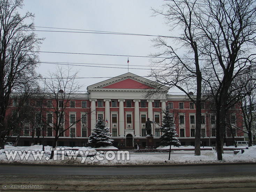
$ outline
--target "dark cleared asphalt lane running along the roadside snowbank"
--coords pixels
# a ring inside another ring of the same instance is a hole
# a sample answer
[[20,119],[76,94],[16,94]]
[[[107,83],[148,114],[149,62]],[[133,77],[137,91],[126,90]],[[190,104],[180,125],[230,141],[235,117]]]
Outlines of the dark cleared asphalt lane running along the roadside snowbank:
[[0,165],[0,174],[30,175],[168,175],[255,172],[256,164],[221,164],[200,166],[120,166],[120,167],[67,167],[67,166],[9,166]]

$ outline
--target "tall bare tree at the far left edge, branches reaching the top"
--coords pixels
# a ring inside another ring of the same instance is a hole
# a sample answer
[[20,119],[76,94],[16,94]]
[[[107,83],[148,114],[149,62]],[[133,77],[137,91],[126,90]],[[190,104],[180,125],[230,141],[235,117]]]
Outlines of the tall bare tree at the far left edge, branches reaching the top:
[[23,0],[0,1],[0,146],[3,148],[10,134],[6,124],[6,110],[10,105],[13,92],[24,92],[23,85],[36,78],[35,67],[38,60],[36,51],[42,39],[34,32],[33,19],[27,12],[18,14]]

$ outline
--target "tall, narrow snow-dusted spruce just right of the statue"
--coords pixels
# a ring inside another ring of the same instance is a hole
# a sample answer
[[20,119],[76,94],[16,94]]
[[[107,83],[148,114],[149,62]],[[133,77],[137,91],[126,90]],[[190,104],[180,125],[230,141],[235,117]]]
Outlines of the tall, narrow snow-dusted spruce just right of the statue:
[[171,146],[173,145],[175,147],[178,147],[181,144],[179,139],[176,137],[178,136],[178,133],[176,132],[173,116],[171,115],[168,106],[166,107],[166,110],[164,112],[162,127],[160,129],[164,133],[160,137],[161,139],[160,145],[162,146],[170,145],[170,151],[169,151],[169,160],[170,160]]

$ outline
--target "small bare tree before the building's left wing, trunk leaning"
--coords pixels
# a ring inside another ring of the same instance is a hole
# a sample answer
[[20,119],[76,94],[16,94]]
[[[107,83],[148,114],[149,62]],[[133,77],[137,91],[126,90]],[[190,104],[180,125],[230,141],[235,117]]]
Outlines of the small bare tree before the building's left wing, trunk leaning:
[[[63,136],[66,130],[69,130],[73,125],[81,120],[81,118],[76,118],[69,123],[69,120],[65,118],[66,108],[69,107],[70,100],[76,97],[76,92],[81,86],[75,82],[77,72],[72,74],[70,68],[63,69],[58,67],[55,73],[49,72],[49,75],[50,78],[45,81],[46,93],[48,93],[46,98],[53,102],[50,104],[52,105],[51,107],[48,105],[50,109],[47,107],[47,113],[51,115],[53,121],[47,120],[47,117],[44,117],[43,121],[48,128],[52,128],[54,130],[55,137],[53,148],[55,148],[59,137]],[[53,151],[50,159],[52,158]]]

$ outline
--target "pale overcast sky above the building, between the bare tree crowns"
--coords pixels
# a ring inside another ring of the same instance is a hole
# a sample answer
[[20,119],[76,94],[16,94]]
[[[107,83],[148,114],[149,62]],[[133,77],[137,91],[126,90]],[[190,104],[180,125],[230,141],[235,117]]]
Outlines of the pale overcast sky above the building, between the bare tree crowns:
[[[30,11],[35,14],[36,30],[92,30],[170,36],[163,17],[151,16],[151,7],[160,8],[164,3],[163,0],[24,0],[23,10],[19,12],[22,14]],[[45,38],[40,49],[42,52],[130,55],[129,72],[139,76],[149,75],[149,67],[142,67],[149,66],[149,58],[134,56],[148,56],[157,52],[152,47],[153,37],[148,36],[46,31],[36,33],[39,38]],[[78,77],[90,77],[79,80],[83,85],[81,91],[107,79],[95,77],[115,77],[128,72],[128,69],[120,69],[127,68],[127,56],[40,53],[40,61],[94,66],[74,68],[79,71]],[[55,71],[55,68],[55,64],[42,63],[37,71],[46,77],[47,70]]]

